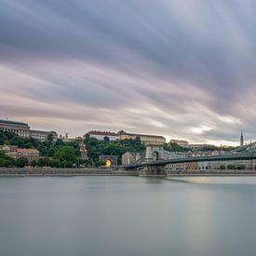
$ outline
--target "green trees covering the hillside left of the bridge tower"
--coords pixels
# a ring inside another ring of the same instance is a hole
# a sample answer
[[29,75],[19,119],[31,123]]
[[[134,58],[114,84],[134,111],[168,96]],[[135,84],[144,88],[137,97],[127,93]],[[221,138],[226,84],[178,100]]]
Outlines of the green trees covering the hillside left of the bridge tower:
[[83,161],[80,158],[80,140],[62,141],[53,140],[49,134],[47,141],[38,141],[34,138],[21,138],[14,132],[0,131],[1,145],[16,145],[19,148],[37,149],[40,158],[29,162],[25,157],[14,158],[6,155],[3,151],[0,155],[0,167],[25,167],[31,165],[33,167],[54,167],[54,168],[72,168],[81,165],[87,167],[99,167],[103,163],[99,160],[100,155],[118,155],[118,164],[121,164],[121,157],[126,152],[144,152],[145,147],[141,143],[140,138],[135,140],[109,141],[105,138],[104,141],[99,141],[95,138],[89,138],[87,135],[84,138],[88,150],[88,160]]

